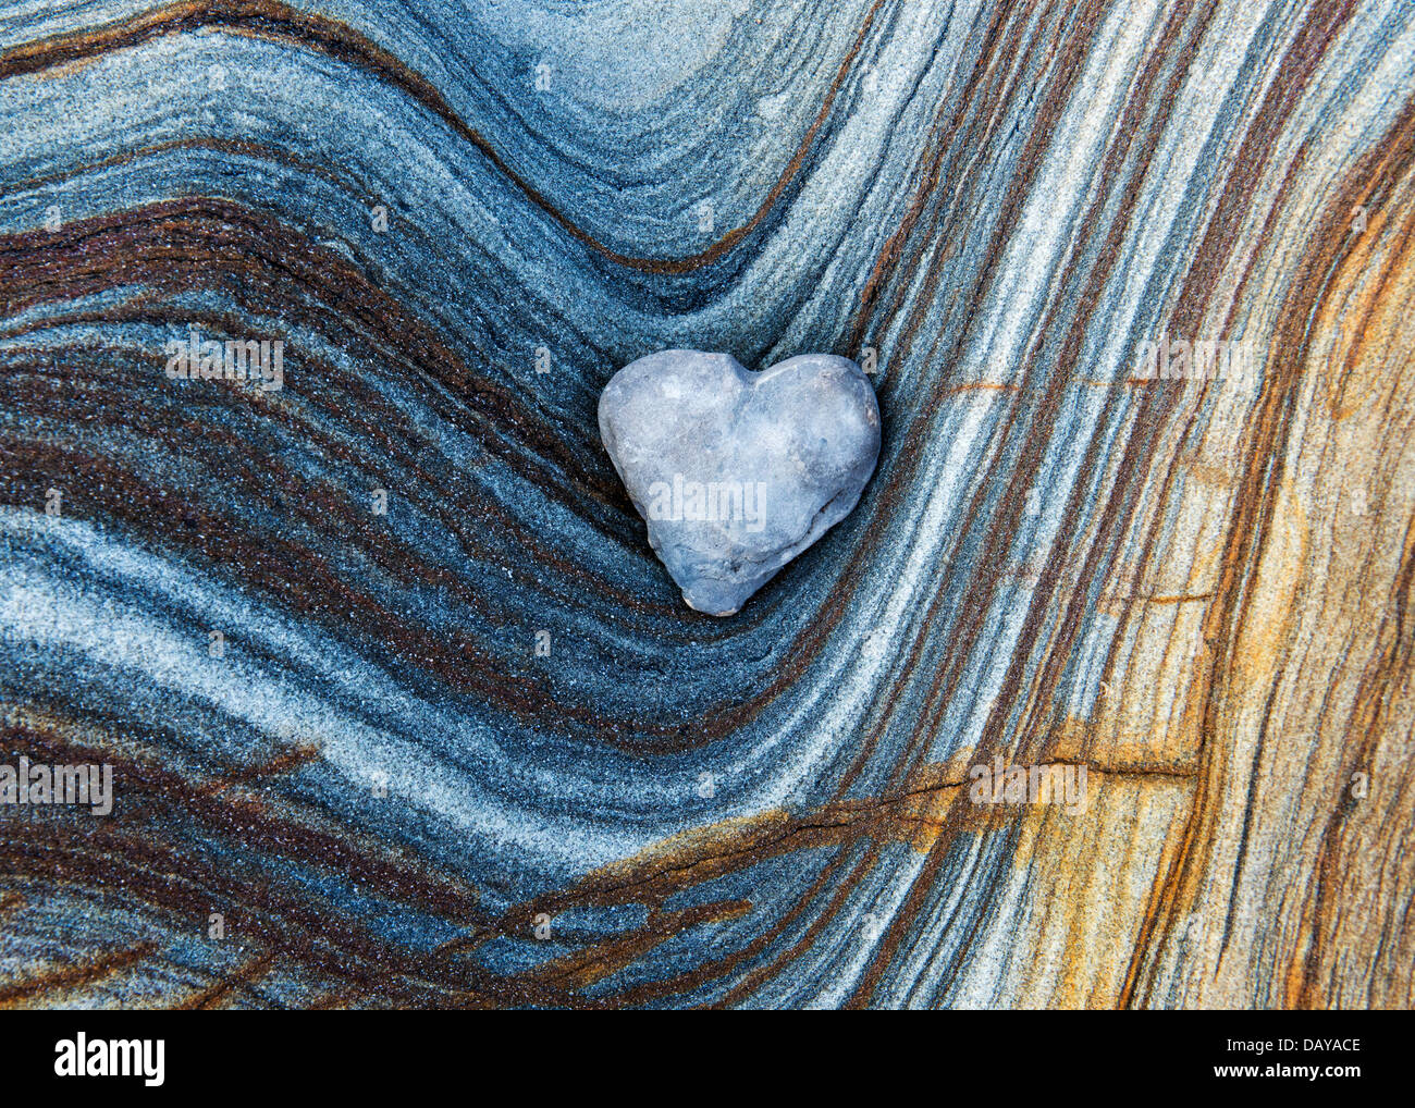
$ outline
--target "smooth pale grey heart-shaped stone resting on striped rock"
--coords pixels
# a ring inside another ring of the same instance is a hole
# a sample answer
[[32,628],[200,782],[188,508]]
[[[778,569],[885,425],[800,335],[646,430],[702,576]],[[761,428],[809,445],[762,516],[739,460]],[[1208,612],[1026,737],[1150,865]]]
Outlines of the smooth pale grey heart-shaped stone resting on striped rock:
[[732,616],[849,515],[879,458],[880,412],[849,358],[753,374],[727,354],[665,350],[604,386],[600,437],[683,600]]

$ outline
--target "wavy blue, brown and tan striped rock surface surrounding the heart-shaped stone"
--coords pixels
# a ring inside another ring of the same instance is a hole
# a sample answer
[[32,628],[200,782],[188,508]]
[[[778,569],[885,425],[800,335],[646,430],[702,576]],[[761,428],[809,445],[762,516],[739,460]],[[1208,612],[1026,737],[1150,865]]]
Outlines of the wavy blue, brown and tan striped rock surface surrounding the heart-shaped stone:
[[[4,760],[113,811],[0,808],[0,1003],[1411,1005],[1412,91],[1404,0],[10,3]],[[727,620],[596,432],[671,347],[879,393]]]

